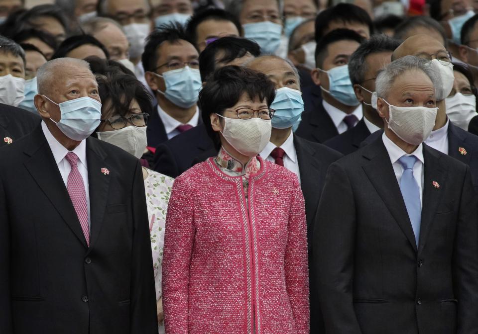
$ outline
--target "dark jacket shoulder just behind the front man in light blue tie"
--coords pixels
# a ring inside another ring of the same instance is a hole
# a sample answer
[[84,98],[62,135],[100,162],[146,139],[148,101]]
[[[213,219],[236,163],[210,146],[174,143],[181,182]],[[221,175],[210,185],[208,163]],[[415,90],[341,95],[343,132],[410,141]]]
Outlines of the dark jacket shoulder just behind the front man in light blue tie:
[[357,151],[360,148],[360,143],[368,136],[370,136],[370,131],[368,131],[365,121],[362,118],[355,127],[329,139],[324,145],[344,155],[348,155]]

